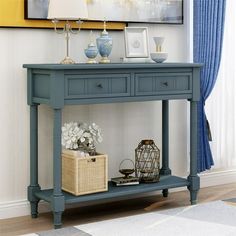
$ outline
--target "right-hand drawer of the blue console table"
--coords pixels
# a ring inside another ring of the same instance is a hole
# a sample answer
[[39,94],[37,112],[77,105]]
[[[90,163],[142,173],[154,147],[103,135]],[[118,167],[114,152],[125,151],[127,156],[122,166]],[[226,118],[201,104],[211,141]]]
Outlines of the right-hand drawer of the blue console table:
[[192,92],[191,73],[148,73],[135,75],[135,95]]

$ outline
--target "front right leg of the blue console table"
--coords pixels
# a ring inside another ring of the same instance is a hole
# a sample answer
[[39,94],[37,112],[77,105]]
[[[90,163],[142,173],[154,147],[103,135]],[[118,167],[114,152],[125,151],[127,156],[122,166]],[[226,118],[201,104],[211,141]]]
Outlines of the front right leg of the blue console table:
[[191,101],[190,108],[190,174],[188,181],[190,185],[190,201],[194,205],[197,203],[197,193],[200,188],[200,178],[197,175],[197,102]]

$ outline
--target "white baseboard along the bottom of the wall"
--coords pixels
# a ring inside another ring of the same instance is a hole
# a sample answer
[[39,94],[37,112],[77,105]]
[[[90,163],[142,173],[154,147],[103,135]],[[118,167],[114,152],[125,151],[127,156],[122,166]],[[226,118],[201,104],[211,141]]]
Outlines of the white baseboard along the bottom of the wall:
[[[229,184],[236,182],[236,170],[215,171],[199,175],[201,188]],[[186,190],[186,188],[175,188],[171,192]],[[50,207],[46,202],[40,202],[39,212],[48,212]],[[0,203],[0,219],[30,215],[30,204],[24,200]]]

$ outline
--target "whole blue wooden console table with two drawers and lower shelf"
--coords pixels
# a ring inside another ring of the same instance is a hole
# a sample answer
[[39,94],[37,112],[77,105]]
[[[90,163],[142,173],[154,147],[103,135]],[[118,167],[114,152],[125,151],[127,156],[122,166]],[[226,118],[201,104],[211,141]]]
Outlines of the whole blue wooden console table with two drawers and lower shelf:
[[[67,204],[106,201],[156,190],[167,197],[168,189],[186,186],[191,204],[196,204],[200,179],[197,175],[197,102],[200,98],[201,64],[27,64],[27,93],[30,106],[30,185],[31,215],[38,216],[38,202],[47,201],[54,214],[54,226],[61,226]],[[190,174],[171,175],[169,168],[168,102],[190,102]],[[61,116],[65,105],[162,100],[162,168],[159,183],[113,187],[109,191],[73,196],[61,190]],[[38,106],[53,109],[53,188],[38,183]]]

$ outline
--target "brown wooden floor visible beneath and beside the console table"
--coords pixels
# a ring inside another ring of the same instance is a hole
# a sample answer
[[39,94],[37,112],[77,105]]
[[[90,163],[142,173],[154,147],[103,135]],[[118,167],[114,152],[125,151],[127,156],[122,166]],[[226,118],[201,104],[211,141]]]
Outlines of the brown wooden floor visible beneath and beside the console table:
[[[209,202],[236,197],[236,184],[202,188],[198,202]],[[174,207],[189,205],[189,192],[170,193],[168,198],[153,195],[132,200],[124,200],[66,210],[63,214],[63,227],[85,224],[117,217],[142,214]],[[53,228],[51,213],[39,214],[37,219],[30,216],[0,220],[0,235],[14,236],[50,230]]]

